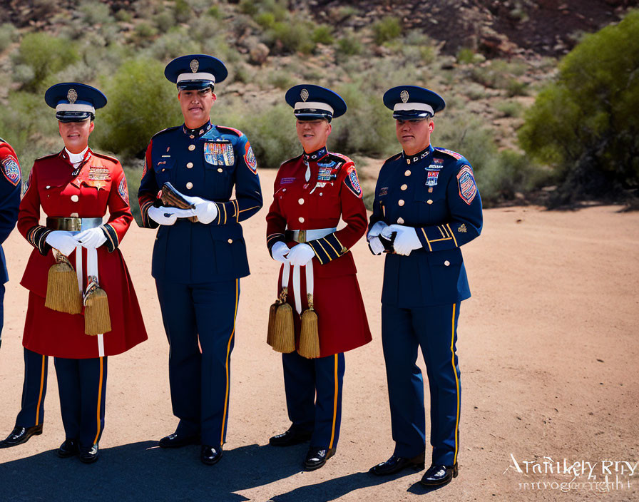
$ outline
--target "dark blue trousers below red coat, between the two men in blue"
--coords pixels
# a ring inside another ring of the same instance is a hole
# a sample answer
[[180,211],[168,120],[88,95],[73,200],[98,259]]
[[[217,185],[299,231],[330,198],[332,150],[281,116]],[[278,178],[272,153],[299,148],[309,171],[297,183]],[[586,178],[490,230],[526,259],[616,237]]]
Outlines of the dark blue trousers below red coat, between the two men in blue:
[[313,431],[310,446],[335,448],[342,421],[344,354],[306,359],[291,352],[282,354],[282,364],[292,426],[300,431]]

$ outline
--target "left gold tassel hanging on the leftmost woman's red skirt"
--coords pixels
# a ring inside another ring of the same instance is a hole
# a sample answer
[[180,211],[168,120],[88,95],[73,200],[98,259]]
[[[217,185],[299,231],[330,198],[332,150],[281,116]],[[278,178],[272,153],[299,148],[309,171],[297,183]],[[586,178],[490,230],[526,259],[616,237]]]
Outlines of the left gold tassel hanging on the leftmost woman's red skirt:
[[82,312],[82,298],[76,271],[61,252],[54,249],[53,255],[56,263],[48,270],[44,306],[66,314],[79,314]]

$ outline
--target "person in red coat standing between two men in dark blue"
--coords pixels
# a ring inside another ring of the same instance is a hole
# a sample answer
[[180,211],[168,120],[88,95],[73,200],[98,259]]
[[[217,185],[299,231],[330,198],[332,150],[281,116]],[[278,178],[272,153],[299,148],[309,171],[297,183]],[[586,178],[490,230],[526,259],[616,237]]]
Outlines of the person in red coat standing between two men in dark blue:
[[[304,152],[277,172],[266,217],[267,245],[282,262],[278,291],[282,285],[288,288],[298,350],[300,313],[309,307],[307,294],[312,293],[320,357],[282,354],[292,425],[269,442],[290,446],[310,440],[304,466],[313,470],[334,455],[339,439],[344,352],[371,341],[349,252],[364,235],[367,215],[353,161],[326,148],[332,118],[346,112],[344,100],[329,89],[302,84],[287,91],[286,101],[294,108]],[[346,226],[337,230],[340,217]]]

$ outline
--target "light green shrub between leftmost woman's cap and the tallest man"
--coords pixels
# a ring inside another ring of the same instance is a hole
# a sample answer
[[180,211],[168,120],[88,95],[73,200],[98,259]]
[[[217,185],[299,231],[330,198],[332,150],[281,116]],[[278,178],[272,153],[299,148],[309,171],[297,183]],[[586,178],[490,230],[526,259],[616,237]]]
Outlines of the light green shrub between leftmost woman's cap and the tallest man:
[[136,155],[158,130],[183,122],[178,92],[154,59],[126,61],[104,92],[108,105],[98,113],[94,135],[100,148],[116,155]]

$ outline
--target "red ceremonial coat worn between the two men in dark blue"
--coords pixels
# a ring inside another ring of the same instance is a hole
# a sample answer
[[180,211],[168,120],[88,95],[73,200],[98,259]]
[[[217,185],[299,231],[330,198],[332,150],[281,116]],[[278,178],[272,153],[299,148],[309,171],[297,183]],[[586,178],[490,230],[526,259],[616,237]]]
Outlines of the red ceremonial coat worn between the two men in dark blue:
[[[307,170],[309,179],[306,180]],[[346,226],[319,239],[307,242],[315,252],[314,309],[320,330],[320,357],[355,349],[371,341],[357,270],[349,248],[367,228],[362,188],[354,163],[345,155],[317,152],[302,154],[280,165],[275,178],[273,203],[267,221],[267,246],[297,242],[287,238],[285,230],[315,230],[337,227],[340,217]],[[301,299],[307,308],[305,272],[301,272]],[[282,270],[278,280],[281,289]],[[287,302],[294,307],[292,271]],[[299,337],[299,316],[295,316]]]

